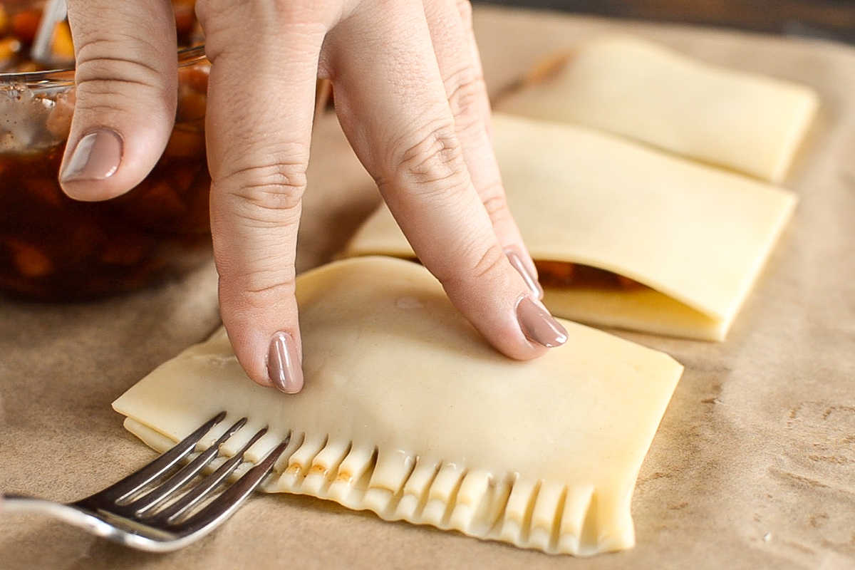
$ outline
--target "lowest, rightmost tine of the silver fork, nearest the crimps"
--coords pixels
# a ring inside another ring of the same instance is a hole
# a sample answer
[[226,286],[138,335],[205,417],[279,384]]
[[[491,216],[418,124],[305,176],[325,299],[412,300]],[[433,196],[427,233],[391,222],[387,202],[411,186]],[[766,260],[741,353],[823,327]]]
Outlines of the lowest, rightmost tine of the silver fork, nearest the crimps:
[[219,497],[205,505],[197,514],[193,514],[187,520],[178,525],[173,526],[173,530],[180,536],[187,536],[197,532],[204,534],[212,531],[223,520],[226,520],[231,514],[239,508],[239,506],[249,497],[252,491],[255,491],[258,485],[268,474],[273,471],[276,461],[279,461],[280,456],[286,450],[288,441],[291,439],[289,435],[285,440],[277,445],[273,451],[268,453],[263,461],[257,463],[249,471],[244,473],[234,485],[223,491]]

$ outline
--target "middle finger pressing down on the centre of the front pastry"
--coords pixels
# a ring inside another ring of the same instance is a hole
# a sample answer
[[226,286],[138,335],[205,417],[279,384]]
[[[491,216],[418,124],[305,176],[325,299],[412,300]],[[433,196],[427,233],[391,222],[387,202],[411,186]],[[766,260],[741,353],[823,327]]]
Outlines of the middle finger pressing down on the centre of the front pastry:
[[532,293],[472,184],[422,3],[362,3],[325,50],[339,120],[416,254],[499,350],[542,354],[517,318]]

